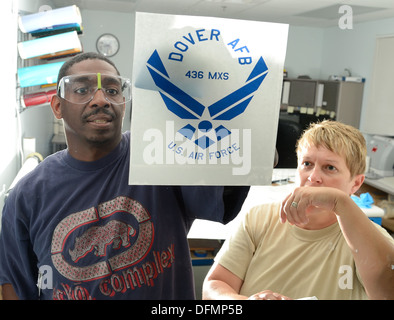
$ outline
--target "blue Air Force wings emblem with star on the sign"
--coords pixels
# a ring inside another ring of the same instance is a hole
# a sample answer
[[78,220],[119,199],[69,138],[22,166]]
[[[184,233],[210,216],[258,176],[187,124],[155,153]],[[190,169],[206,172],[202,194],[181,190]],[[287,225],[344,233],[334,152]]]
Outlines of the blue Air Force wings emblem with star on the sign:
[[[224,137],[230,135],[231,131],[224,125],[219,125],[216,128],[213,128],[214,126],[211,121],[229,121],[242,114],[252,100],[254,93],[258,90],[264,78],[268,74],[268,67],[264,59],[260,57],[252,72],[246,79],[245,84],[241,88],[233,91],[209,106],[204,106],[171,82],[170,76],[160,59],[157,50],[155,50],[148,59],[147,68],[153,81],[159,88],[159,93],[167,109],[181,119],[198,121],[197,128],[189,123],[178,130],[180,134],[192,141],[195,139],[194,134],[197,129],[203,133],[211,132],[212,129],[214,129],[214,137],[216,137],[216,141],[220,141]],[[209,119],[211,121],[202,119],[206,110],[208,110]],[[194,143],[200,148],[206,149],[215,143],[212,137],[212,135],[208,137],[207,134],[203,134],[198,139],[195,139]]]

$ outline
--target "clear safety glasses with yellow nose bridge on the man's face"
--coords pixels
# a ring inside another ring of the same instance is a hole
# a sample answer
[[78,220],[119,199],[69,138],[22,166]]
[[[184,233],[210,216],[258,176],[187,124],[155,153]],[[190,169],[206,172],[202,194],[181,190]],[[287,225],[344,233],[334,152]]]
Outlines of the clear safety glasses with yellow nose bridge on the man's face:
[[101,90],[112,104],[124,104],[131,100],[131,81],[102,73],[76,74],[63,77],[58,84],[58,95],[76,104],[87,104]]

